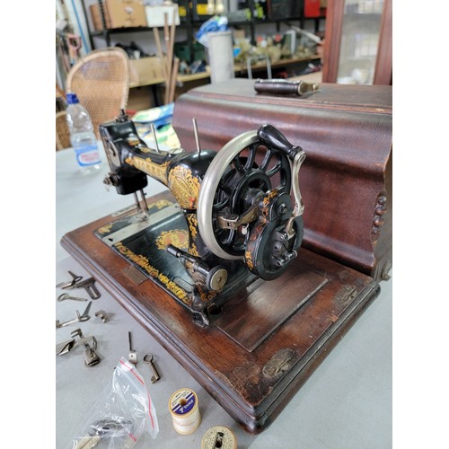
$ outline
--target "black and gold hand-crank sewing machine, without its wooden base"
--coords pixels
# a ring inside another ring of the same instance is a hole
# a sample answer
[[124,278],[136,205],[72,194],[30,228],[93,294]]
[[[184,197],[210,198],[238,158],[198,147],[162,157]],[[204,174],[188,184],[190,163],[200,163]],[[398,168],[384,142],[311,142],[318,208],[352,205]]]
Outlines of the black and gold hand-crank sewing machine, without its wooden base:
[[[150,244],[154,253],[140,269],[150,276],[152,270],[157,273],[154,279],[189,307],[193,320],[207,325],[208,312],[224,304],[237,288],[257,277],[281,276],[297,256],[304,234],[298,173],[305,153],[267,124],[234,137],[218,153],[200,148],[196,120],[193,130],[197,149],[188,153],[160,151],[155,134],[155,149],[149,148],[125,114],[100,127],[111,169],[104,182],[121,195],[134,194],[140,209],[125,230],[120,229],[119,242],[111,233],[104,241],[133,256],[124,245],[136,235],[142,236],[142,244],[152,237],[159,241],[157,249]],[[177,204],[148,214],[143,192],[147,175],[167,186]],[[177,223],[180,212],[187,233]],[[176,258],[188,278],[170,268],[179,265]],[[164,269],[168,271],[163,273]]]

